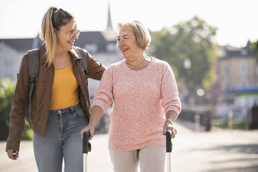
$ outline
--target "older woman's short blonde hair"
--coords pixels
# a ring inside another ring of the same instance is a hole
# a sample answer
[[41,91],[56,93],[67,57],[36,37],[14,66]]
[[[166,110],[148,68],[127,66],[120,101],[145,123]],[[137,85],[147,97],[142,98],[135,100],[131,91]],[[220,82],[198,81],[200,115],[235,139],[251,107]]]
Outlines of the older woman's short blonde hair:
[[148,49],[151,40],[150,33],[148,32],[148,28],[146,28],[140,22],[133,20],[132,22],[118,23],[117,29],[119,32],[133,32],[135,34],[136,42],[139,45],[139,47],[141,47],[141,49],[144,49],[144,51]]

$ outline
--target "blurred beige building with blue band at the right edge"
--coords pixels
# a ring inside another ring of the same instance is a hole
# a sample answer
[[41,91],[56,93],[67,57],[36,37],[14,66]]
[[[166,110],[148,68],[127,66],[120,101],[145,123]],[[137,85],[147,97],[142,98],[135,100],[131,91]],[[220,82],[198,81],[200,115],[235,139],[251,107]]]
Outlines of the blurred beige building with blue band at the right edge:
[[247,117],[258,101],[257,57],[250,42],[242,48],[222,46],[216,62],[216,103],[219,113],[234,112],[235,117]]

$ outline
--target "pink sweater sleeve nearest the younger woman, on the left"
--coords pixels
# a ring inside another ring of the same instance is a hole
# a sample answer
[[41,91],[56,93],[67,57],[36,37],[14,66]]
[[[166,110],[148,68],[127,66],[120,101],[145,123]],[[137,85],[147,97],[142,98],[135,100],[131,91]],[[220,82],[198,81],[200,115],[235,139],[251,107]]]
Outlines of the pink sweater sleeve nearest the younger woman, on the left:
[[101,107],[103,112],[105,112],[105,110],[110,107],[113,101],[113,85],[114,83],[112,78],[112,72],[111,69],[108,68],[104,71],[101,78],[101,83],[99,84],[98,89],[96,89],[92,107],[94,105],[98,105],[99,107]]

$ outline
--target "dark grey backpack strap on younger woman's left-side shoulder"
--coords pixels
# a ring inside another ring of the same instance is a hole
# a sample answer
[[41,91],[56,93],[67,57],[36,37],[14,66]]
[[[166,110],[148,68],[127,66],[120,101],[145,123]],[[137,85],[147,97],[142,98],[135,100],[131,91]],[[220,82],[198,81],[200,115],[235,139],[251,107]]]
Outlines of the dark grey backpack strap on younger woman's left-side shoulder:
[[28,96],[30,98],[33,95],[33,89],[35,85],[35,78],[39,72],[40,57],[38,49],[33,49],[28,51],[28,82],[30,83],[30,90]]

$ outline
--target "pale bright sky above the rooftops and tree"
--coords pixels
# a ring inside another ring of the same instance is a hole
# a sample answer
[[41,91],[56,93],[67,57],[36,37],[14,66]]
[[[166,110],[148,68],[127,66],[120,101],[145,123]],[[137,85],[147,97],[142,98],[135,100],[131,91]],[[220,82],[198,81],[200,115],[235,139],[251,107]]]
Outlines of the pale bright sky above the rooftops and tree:
[[160,31],[198,16],[217,28],[220,45],[241,47],[258,40],[257,0],[1,0],[0,39],[35,37],[50,6],[71,12],[81,31],[104,31],[108,3],[114,29],[118,22],[136,19]]

